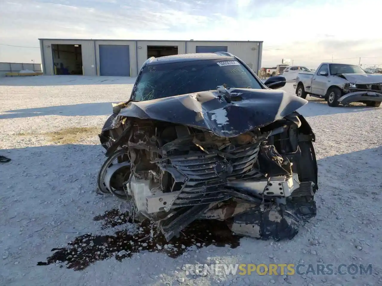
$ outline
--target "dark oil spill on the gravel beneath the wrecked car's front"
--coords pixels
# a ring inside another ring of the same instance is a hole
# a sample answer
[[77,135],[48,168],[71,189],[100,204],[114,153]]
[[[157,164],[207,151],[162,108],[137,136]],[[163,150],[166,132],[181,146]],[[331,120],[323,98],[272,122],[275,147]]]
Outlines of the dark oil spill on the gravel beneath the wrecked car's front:
[[[102,222],[102,228],[115,227],[131,222],[128,213],[121,213],[113,209],[94,218]],[[111,257],[121,261],[141,251],[162,252],[175,258],[183,254],[188,247],[197,248],[214,246],[227,246],[236,248],[240,245],[241,236],[233,235],[227,225],[218,220],[197,220],[181,231],[179,238],[170,242],[161,235],[150,237],[149,223],[138,223],[139,231],[131,234],[128,231],[117,231],[115,235],[86,235],[78,236],[68,243],[67,247],[53,248],[56,251],[47,258],[47,262],[38,262],[37,265],[49,265],[64,262],[66,268],[83,270],[90,264]]]

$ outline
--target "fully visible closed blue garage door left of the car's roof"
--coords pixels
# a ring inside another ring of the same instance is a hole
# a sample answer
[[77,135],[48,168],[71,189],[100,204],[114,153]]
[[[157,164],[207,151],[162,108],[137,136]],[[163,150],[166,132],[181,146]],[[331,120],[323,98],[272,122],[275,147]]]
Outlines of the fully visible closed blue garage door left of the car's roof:
[[130,76],[128,45],[99,45],[100,76]]

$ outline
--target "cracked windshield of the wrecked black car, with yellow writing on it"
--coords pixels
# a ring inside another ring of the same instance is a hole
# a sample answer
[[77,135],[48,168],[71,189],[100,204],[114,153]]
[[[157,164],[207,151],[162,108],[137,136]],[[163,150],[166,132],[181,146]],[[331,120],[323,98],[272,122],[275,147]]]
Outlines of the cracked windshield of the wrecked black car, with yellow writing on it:
[[211,59],[144,67],[131,100],[145,101],[227,88],[261,89],[256,78],[238,61]]

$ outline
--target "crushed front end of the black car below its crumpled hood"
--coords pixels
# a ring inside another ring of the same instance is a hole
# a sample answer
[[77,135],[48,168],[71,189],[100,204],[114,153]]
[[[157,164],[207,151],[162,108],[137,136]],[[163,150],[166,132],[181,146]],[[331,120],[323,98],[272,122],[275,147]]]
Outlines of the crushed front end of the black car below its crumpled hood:
[[167,241],[198,219],[225,221],[237,235],[291,239],[316,215],[315,136],[297,112],[231,137],[117,113],[100,134],[109,159],[99,188],[126,193]]

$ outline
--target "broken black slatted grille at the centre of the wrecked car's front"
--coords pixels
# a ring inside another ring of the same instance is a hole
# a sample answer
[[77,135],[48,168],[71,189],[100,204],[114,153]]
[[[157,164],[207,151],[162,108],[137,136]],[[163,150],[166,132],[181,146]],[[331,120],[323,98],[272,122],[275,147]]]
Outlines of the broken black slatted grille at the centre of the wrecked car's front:
[[[246,145],[229,153],[190,154],[168,157],[170,164],[160,164],[184,184],[172,208],[210,204],[230,198],[222,191],[227,180],[259,175],[253,165],[259,154],[259,144]],[[172,166],[172,167],[170,167]],[[179,174],[174,174],[178,172]]]

